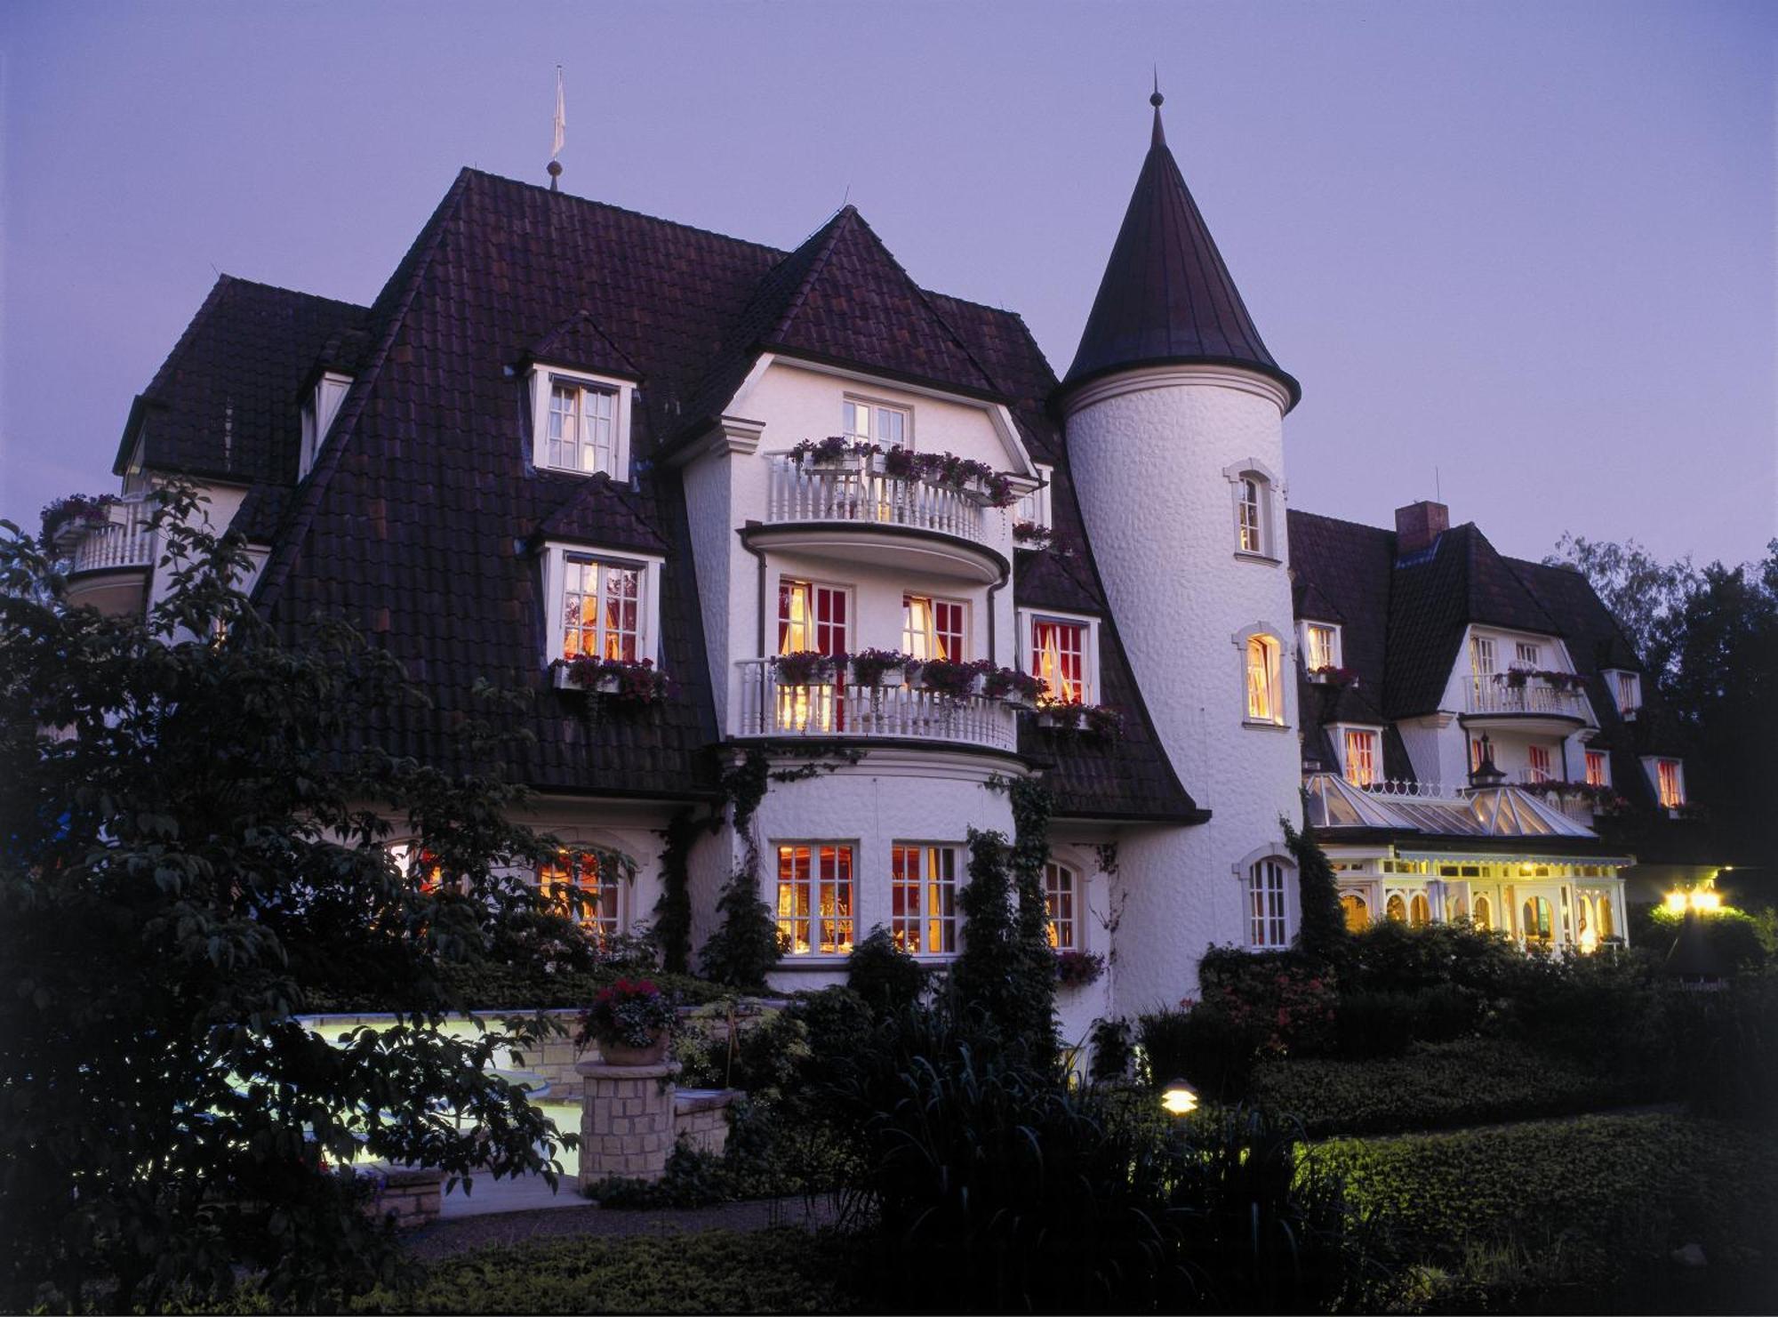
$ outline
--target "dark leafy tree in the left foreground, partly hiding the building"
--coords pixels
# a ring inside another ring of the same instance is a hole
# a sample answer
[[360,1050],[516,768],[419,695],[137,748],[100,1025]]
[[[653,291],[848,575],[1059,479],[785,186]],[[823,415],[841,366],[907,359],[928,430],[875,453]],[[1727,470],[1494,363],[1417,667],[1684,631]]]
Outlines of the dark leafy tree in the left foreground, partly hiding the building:
[[[548,840],[509,822],[523,794],[368,744],[423,696],[343,625],[283,642],[231,584],[242,543],[194,529],[196,504],[162,493],[171,589],[146,619],[55,603],[53,564],[0,523],[12,1310],[153,1310],[240,1265],[324,1303],[395,1258],[354,1155],[464,1191],[555,1169],[555,1127],[487,1068],[544,1022],[443,1029],[464,1004],[441,970],[537,909],[523,874]],[[299,1020],[338,965],[380,981],[389,1029],[336,1045]]]

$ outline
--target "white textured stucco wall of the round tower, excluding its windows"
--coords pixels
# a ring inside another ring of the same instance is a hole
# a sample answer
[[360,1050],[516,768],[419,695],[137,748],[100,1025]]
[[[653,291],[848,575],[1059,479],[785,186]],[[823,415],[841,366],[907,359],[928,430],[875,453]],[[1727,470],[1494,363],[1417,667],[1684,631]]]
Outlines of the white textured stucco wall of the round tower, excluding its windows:
[[[1129,372],[1070,400],[1074,482],[1118,632],[1173,767],[1213,810],[1122,842],[1118,1013],[1197,995],[1204,949],[1248,940],[1236,869],[1301,813],[1282,420],[1275,384],[1202,367]],[[1230,472],[1245,466],[1273,477],[1277,562],[1237,553]],[[1245,723],[1255,626],[1284,646],[1282,728]],[[1293,881],[1293,933],[1294,913]]]

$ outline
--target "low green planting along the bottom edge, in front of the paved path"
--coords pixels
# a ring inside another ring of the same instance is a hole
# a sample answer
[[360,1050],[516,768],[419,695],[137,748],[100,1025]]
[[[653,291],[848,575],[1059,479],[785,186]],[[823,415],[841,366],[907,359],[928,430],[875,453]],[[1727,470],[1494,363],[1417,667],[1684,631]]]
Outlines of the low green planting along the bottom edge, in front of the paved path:
[[411,1289],[352,1312],[855,1312],[836,1235],[779,1226],[500,1244],[434,1264]]

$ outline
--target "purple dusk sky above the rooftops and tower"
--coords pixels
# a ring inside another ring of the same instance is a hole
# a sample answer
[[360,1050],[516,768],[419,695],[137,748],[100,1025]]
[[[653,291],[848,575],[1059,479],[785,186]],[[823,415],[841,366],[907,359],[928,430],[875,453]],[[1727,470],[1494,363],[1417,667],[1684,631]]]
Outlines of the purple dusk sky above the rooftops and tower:
[[[48,4],[0,14],[0,516],[116,488],[217,271],[366,303],[459,166],[795,246],[850,190],[1058,374],[1166,132],[1277,360],[1291,502],[1435,479],[1741,561],[1778,534],[1769,4]],[[1437,477],[1435,477],[1437,472]]]

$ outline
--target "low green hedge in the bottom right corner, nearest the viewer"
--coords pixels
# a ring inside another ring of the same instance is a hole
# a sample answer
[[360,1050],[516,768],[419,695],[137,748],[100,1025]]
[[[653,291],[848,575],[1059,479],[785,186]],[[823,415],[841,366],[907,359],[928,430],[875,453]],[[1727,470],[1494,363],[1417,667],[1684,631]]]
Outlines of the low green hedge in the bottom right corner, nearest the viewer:
[[1348,1201],[1406,1256],[1462,1267],[1478,1246],[1568,1251],[1609,1276],[1702,1244],[1712,1265],[1778,1260],[1778,1137],[1639,1114],[1325,1143]]

